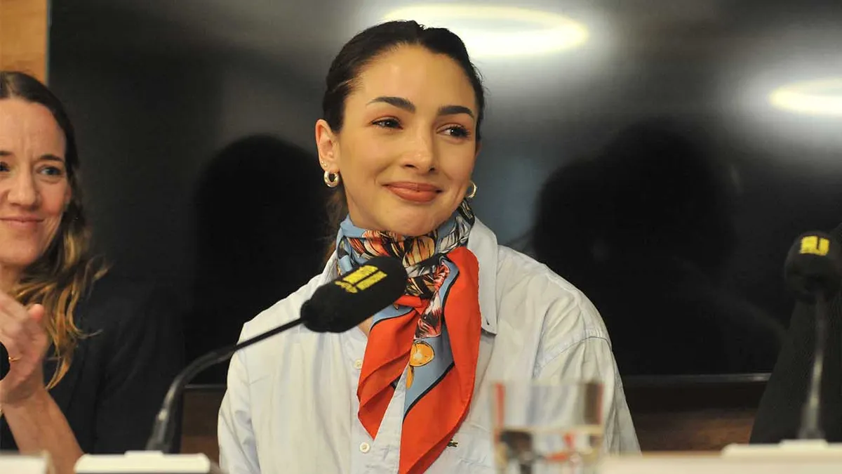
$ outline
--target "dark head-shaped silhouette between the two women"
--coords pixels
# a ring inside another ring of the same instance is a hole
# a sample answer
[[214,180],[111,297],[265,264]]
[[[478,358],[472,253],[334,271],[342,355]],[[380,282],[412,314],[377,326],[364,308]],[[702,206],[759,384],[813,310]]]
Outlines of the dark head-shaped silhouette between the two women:
[[[223,148],[195,197],[188,359],[237,342],[242,325],[322,270],[327,189],[315,154],[266,135]],[[197,382],[224,383],[227,364]]]

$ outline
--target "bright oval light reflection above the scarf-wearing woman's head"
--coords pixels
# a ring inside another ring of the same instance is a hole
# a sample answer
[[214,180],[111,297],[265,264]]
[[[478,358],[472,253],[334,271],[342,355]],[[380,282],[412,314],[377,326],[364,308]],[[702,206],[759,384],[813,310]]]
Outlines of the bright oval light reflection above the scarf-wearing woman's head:
[[573,49],[588,40],[588,29],[573,19],[517,7],[415,5],[386,13],[382,21],[413,19],[459,35],[474,58],[546,54]]

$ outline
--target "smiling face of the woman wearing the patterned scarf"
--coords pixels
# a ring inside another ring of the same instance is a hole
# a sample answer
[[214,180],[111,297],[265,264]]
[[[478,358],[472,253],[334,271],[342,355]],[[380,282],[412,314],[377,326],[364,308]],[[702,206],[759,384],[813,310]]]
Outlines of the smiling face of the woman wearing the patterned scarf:
[[450,57],[400,46],[363,68],[341,132],[316,124],[322,168],[340,173],[354,225],[414,236],[450,218],[477,159],[477,116]]

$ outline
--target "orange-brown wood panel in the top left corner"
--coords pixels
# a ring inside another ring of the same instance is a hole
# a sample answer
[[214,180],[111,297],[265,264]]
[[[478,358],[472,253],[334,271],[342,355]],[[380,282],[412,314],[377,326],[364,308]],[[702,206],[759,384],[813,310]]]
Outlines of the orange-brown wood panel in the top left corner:
[[48,0],[0,0],[0,69],[46,82]]

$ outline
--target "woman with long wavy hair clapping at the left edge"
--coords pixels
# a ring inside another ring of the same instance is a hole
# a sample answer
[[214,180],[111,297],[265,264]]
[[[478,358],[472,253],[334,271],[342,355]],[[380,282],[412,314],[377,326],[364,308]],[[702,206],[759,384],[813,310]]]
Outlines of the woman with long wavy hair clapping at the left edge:
[[0,449],[46,450],[60,473],[142,449],[182,364],[170,305],[89,256],[78,167],[61,103],[0,72]]

